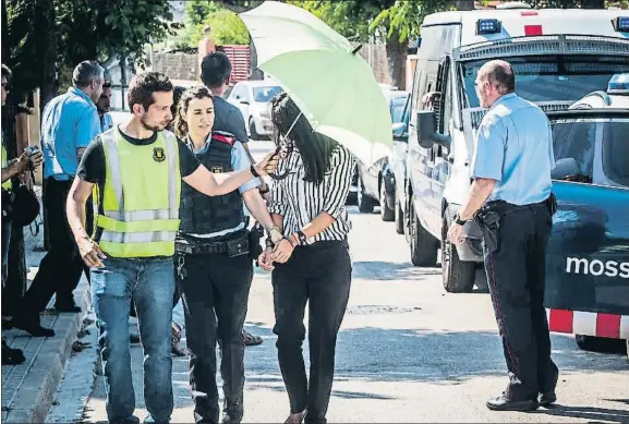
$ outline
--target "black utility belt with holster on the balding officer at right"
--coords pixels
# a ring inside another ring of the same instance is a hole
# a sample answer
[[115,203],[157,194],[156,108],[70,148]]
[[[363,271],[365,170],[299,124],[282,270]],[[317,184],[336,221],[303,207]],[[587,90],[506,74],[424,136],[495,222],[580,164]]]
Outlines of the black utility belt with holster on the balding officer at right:
[[500,228],[500,216],[511,214],[517,210],[536,209],[546,207],[551,216],[557,211],[557,197],[551,193],[548,198],[540,203],[530,205],[513,205],[505,201],[487,202],[474,215],[474,222],[483,233],[483,242],[487,252],[492,253],[498,250],[498,230]]

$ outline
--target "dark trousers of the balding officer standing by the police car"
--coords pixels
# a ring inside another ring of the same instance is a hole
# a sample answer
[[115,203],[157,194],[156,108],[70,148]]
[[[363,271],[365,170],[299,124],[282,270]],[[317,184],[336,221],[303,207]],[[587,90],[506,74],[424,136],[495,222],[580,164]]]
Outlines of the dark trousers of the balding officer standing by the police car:
[[545,203],[492,207],[500,216],[498,249],[485,250],[485,270],[509,371],[509,400],[555,390],[544,288],[553,218]]

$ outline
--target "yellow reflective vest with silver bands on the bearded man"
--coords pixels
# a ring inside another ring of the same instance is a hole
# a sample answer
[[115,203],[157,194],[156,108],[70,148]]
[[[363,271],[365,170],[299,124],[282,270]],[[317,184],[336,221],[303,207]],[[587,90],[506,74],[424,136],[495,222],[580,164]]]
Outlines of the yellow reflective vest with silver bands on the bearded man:
[[101,206],[98,189],[94,195],[100,249],[113,257],[171,256],[180,222],[177,137],[164,131],[155,143],[137,146],[118,126],[100,137],[106,161]]

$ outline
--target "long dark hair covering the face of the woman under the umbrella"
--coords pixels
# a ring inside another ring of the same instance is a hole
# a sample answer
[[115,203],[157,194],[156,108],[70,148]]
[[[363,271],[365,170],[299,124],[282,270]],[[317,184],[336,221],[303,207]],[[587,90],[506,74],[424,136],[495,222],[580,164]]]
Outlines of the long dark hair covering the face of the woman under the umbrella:
[[297,146],[304,165],[304,181],[317,184],[323,182],[325,172],[330,166],[331,154],[338,146],[337,142],[315,133],[307,119],[301,114],[299,107],[286,93],[271,100],[271,121],[278,130],[276,144],[280,146],[281,137],[286,137]]

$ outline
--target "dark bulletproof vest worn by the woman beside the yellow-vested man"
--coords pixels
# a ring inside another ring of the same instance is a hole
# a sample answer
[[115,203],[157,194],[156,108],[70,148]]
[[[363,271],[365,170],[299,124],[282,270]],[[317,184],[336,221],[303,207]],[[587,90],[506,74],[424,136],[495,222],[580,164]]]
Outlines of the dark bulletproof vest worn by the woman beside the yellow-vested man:
[[[231,149],[235,137],[229,133],[214,132],[208,152],[196,158],[210,172],[230,172]],[[185,182],[181,184],[179,231],[188,234],[209,234],[238,227],[244,221],[243,201],[239,190],[222,196],[207,196]]]

